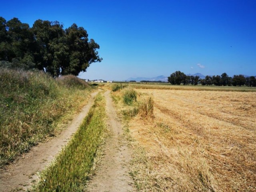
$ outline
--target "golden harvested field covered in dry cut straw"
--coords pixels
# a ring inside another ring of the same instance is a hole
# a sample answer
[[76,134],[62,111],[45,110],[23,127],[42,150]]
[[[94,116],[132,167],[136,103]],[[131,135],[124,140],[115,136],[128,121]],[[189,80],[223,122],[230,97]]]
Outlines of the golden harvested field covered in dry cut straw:
[[256,93],[137,89],[154,118],[129,123],[141,191],[256,191]]

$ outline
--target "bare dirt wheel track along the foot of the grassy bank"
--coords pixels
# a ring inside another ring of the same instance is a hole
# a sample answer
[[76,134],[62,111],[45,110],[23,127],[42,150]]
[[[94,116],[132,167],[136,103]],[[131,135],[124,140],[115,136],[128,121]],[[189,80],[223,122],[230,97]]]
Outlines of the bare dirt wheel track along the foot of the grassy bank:
[[88,104],[60,135],[48,142],[38,144],[15,163],[7,166],[5,170],[0,170],[0,192],[26,190],[38,180],[37,172],[43,170],[53,160],[72,134],[76,132],[92,106],[96,94],[97,92],[92,93]]

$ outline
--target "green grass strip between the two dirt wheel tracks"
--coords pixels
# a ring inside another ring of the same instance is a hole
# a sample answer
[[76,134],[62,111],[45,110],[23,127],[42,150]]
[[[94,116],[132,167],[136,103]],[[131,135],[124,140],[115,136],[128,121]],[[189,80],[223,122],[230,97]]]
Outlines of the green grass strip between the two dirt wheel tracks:
[[55,161],[42,172],[35,191],[84,191],[106,132],[105,99],[96,96],[80,128]]

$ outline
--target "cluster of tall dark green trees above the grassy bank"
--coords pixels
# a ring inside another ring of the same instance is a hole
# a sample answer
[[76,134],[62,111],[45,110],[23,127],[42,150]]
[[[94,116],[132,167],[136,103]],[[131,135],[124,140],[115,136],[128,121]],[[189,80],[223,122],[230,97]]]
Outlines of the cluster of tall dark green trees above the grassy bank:
[[78,75],[93,62],[101,62],[99,48],[76,24],[64,29],[58,21],[36,20],[30,28],[18,18],[6,21],[0,17],[2,66],[37,68],[52,76]]

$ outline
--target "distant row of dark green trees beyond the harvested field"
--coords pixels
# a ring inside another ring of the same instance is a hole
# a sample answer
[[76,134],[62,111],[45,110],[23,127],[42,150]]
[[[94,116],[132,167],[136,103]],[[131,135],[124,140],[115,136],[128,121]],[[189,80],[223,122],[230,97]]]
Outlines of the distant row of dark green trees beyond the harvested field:
[[168,77],[168,82],[173,85],[215,85],[215,86],[249,86],[256,87],[255,76],[244,77],[244,75],[234,75],[229,77],[226,73],[217,76],[206,76],[204,79],[200,79],[199,76],[188,76],[183,72],[176,71]]

